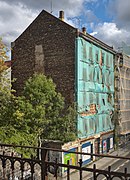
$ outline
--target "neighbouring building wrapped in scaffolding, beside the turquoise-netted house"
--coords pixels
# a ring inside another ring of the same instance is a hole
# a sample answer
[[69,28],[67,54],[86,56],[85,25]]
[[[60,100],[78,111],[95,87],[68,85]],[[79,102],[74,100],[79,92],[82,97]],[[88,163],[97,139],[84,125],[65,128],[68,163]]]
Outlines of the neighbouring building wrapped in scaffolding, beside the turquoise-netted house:
[[[125,50],[123,48],[123,51],[118,53],[115,76],[116,109],[119,116],[118,135],[124,142],[130,135],[130,55],[125,54],[125,52],[126,48]],[[127,53],[129,52],[127,48]]]

